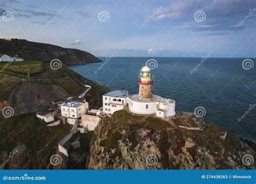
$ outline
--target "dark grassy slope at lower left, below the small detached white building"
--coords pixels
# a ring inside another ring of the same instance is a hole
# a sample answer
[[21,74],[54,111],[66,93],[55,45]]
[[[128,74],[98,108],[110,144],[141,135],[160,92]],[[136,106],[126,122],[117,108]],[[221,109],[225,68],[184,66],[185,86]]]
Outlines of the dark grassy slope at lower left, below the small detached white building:
[[10,117],[0,125],[0,151],[10,152],[18,143],[37,151],[45,146],[55,147],[70,130],[69,124],[47,127],[34,114]]

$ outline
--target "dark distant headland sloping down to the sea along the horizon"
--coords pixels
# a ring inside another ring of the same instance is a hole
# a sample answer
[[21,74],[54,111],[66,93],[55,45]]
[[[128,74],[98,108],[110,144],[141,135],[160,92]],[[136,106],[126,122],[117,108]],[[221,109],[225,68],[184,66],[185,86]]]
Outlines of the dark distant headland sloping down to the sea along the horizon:
[[32,61],[51,61],[59,59],[64,65],[81,65],[101,61],[96,56],[86,51],[75,48],[63,48],[51,44],[36,43],[23,39],[0,39],[0,54],[10,56],[18,55],[19,58]]

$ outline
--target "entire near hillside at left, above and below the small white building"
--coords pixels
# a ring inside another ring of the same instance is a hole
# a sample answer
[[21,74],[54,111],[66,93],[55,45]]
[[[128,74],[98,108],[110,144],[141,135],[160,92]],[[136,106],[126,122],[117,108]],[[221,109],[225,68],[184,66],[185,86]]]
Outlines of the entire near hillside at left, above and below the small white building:
[[[0,71],[0,104],[6,102],[14,109],[14,116],[7,119],[0,113],[0,169],[66,169],[70,162],[73,163],[70,168],[73,168],[79,161],[85,167],[84,155],[89,151],[90,141],[82,144],[80,154],[74,152],[70,159],[66,158],[58,152],[58,142],[72,126],[47,127],[36,117],[36,112],[49,107],[52,101],[80,95],[85,90],[84,84],[92,87],[85,96],[90,108],[99,109],[102,95],[109,89],[64,65],[53,70],[49,62],[12,62],[9,66],[4,62],[0,63]],[[87,140],[90,133],[79,137]],[[62,155],[61,165],[50,164],[53,154]]]

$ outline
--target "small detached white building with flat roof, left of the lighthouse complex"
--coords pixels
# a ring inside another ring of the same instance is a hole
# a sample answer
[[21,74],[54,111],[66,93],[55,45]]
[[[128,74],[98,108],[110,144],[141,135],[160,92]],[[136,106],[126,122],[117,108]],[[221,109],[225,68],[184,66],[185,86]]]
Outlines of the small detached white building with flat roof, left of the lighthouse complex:
[[71,102],[60,105],[60,110],[62,112],[63,117],[77,119],[85,114],[85,112],[88,110],[88,106],[88,102]]

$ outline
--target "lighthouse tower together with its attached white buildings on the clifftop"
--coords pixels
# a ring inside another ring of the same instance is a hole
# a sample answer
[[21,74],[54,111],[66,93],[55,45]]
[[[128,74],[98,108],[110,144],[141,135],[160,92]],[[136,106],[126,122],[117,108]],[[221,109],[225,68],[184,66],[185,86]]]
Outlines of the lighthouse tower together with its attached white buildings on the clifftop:
[[134,114],[156,115],[161,118],[175,115],[175,101],[154,95],[150,68],[140,69],[139,94],[129,95],[128,91],[111,91],[103,95],[103,112],[113,114],[124,107]]

